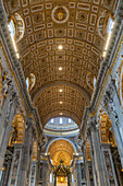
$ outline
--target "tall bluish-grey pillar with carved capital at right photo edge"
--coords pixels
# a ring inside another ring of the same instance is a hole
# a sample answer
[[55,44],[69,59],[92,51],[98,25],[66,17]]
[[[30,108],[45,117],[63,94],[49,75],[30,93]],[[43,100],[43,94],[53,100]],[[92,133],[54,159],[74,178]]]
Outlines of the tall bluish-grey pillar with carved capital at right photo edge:
[[121,112],[121,105],[114,80],[111,80],[106,91],[102,105],[107,109],[112,123],[112,129],[115,137],[119,154],[121,158],[121,164],[123,168],[123,137],[121,136],[120,132],[120,126],[122,126],[123,114]]

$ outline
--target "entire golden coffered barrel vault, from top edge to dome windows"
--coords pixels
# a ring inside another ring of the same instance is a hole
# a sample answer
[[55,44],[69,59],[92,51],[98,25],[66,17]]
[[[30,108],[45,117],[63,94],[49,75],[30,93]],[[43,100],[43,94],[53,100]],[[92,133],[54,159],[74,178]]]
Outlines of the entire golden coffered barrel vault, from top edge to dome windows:
[[25,24],[24,36],[17,43],[20,61],[25,79],[30,73],[36,78],[29,94],[42,126],[60,115],[79,126],[102,60],[103,12],[113,14],[116,0],[3,2],[8,18],[19,13]]

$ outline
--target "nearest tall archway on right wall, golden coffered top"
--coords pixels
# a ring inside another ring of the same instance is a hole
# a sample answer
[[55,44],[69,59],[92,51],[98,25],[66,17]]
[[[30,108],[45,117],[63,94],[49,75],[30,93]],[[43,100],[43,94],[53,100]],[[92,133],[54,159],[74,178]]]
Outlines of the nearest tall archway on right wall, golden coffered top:
[[109,175],[110,183],[118,182],[119,185],[123,184],[123,172],[120,161],[120,154],[118,144],[115,142],[115,136],[109,115],[100,111],[100,142],[103,154],[103,161],[106,162],[106,170]]

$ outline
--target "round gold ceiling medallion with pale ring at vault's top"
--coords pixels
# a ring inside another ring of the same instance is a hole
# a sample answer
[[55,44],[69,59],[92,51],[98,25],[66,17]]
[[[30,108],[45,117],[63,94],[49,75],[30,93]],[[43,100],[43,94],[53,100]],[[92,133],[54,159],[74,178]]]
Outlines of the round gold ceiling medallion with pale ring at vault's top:
[[51,18],[56,23],[65,23],[69,16],[69,10],[64,5],[54,7],[51,13]]

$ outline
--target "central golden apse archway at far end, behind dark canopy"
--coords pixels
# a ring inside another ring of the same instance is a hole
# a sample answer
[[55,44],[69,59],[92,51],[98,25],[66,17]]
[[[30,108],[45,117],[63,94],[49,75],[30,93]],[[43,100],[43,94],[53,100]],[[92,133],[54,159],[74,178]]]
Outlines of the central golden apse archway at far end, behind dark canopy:
[[69,140],[62,138],[53,140],[47,150],[53,165],[54,185],[69,185],[71,177],[70,166],[75,153],[75,147]]

